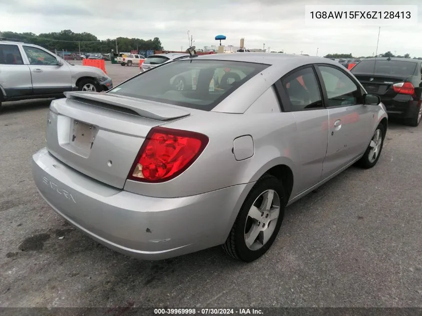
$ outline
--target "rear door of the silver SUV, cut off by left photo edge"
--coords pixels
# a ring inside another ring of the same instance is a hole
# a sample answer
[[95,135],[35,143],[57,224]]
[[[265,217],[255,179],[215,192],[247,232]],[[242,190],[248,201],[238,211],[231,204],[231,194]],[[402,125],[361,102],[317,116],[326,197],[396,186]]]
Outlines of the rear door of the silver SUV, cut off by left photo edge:
[[17,44],[0,43],[0,100],[32,95],[31,73]]

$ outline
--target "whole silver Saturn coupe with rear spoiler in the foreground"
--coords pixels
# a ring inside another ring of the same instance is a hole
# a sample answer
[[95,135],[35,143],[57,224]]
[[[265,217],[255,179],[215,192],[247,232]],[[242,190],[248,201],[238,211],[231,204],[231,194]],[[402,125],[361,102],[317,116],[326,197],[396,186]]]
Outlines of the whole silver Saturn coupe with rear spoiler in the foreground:
[[[193,84],[177,90],[186,72]],[[330,59],[194,56],[52,101],[33,177],[59,215],[121,253],[223,245],[250,262],[287,205],[354,163],[376,165],[387,123],[380,98]]]

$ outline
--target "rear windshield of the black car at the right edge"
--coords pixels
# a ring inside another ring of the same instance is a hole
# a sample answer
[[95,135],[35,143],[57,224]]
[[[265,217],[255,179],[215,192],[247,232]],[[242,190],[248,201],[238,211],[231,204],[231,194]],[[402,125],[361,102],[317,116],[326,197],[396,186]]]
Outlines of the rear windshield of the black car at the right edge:
[[385,74],[397,76],[412,76],[416,69],[416,62],[399,60],[362,60],[352,68],[352,73]]

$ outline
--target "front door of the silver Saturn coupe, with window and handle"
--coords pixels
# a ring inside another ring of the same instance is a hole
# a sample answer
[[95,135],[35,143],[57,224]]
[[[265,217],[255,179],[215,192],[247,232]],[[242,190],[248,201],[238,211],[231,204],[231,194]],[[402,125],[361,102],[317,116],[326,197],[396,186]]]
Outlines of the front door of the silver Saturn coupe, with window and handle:
[[329,64],[317,69],[329,115],[325,178],[365,152],[376,117],[375,108],[364,105],[365,91],[346,70]]

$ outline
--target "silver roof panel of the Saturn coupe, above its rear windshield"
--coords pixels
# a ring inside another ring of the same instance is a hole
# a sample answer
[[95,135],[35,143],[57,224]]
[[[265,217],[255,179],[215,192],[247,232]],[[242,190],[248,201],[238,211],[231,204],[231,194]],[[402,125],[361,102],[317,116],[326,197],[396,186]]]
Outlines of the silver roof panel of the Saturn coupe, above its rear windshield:
[[328,58],[294,55],[285,53],[264,53],[264,52],[250,52],[248,54],[209,54],[195,57],[195,59],[213,59],[213,60],[228,60],[228,61],[246,61],[265,63],[270,65],[282,65],[289,61],[306,60],[307,63],[330,63],[337,65],[338,63]]

